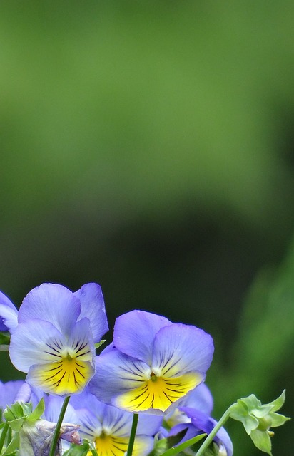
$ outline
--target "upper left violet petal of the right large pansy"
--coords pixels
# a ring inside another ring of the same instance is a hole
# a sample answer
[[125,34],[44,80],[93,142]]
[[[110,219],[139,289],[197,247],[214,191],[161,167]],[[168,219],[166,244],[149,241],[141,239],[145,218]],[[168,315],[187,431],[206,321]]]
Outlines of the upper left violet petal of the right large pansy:
[[164,326],[172,324],[163,316],[145,311],[131,311],[116,318],[113,343],[126,355],[151,364],[156,333]]

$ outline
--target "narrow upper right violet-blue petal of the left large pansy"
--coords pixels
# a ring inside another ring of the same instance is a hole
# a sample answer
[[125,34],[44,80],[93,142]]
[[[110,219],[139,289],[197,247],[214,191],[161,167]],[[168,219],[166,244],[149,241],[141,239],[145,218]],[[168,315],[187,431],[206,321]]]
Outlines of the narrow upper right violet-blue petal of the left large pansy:
[[74,293],[81,302],[80,320],[87,317],[93,334],[93,341],[100,342],[102,336],[108,331],[108,323],[101,286],[98,284],[85,284]]

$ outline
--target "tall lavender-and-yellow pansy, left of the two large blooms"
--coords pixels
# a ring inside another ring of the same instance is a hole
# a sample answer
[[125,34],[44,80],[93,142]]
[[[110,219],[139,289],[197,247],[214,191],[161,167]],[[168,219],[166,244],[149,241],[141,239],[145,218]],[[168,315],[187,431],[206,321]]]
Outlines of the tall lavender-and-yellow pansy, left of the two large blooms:
[[46,393],[78,393],[93,376],[95,346],[108,330],[98,284],[76,293],[41,284],[24,298],[11,336],[10,358],[26,381]]

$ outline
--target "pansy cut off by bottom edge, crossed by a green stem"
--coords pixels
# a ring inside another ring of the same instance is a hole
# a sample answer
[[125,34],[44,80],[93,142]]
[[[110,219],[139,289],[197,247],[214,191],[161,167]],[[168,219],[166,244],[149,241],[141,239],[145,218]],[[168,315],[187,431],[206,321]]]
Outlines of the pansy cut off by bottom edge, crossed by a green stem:
[[[133,413],[124,412],[112,405],[101,403],[86,390],[71,398],[76,408],[80,434],[91,442],[99,456],[123,456],[128,449]],[[153,436],[158,432],[162,418],[143,415],[138,418],[138,427],[133,447],[133,456],[145,456],[153,450]],[[88,455],[92,455],[91,452]]]

